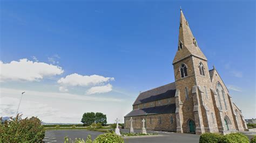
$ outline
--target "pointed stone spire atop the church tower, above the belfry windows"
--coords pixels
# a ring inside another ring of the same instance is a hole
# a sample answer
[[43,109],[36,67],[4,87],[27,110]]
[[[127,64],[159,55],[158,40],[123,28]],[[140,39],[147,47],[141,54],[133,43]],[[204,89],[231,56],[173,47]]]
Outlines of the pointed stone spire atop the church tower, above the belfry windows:
[[173,63],[191,55],[207,61],[204,53],[198,47],[196,38],[194,38],[190,26],[188,26],[188,22],[180,8],[178,51],[173,59]]

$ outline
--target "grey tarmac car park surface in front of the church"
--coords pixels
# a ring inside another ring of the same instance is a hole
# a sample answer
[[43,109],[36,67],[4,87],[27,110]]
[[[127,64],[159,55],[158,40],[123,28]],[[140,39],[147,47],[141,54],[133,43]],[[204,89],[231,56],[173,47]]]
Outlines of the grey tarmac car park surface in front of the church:
[[[127,132],[127,130],[121,130],[121,132]],[[139,130],[135,130],[139,132]],[[45,133],[44,142],[64,142],[64,137],[68,136],[72,140],[75,138],[87,138],[90,134],[92,139],[95,139],[102,132],[87,131],[87,130],[48,130]],[[199,142],[199,135],[196,134],[181,134],[171,132],[158,132],[158,134],[164,135],[161,137],[146,137],[145,138],[133,138],[125,139],[125,142]]]

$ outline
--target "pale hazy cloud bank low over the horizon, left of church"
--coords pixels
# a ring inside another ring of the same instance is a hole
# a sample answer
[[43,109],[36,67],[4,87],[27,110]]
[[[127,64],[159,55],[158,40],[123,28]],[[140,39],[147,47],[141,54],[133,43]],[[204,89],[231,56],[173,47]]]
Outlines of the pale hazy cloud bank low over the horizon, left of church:
[[[0,117],[16,115],[23,90],[1,88]],[[35,116],[46,123],[80,123],[84,112],[103,112],[107,121],[113,123],[117,117],[123,119],[130,112],[132,102],[124,102],[124,98],[25,90],[19,113],[23,114],[22,118]]]

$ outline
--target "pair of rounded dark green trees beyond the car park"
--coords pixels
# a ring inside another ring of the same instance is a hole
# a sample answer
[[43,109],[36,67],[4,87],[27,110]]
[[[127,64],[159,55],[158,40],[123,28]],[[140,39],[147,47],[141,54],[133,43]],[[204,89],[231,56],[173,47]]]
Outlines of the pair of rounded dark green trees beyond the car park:
[[97,112],[87,112],[84,113],[81,122],[84,125],[91,125],[92,123],[102,123],[102,125],[106,124],[106,115],[103,113]]

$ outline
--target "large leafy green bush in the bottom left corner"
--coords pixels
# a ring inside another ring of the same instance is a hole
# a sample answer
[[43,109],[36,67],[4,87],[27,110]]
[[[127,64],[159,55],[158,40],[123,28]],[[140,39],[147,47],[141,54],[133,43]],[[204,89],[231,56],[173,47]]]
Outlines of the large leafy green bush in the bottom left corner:
[[37,117],[22,119],[17,115],[15,119],[10,118],[0,124],[0,142],[42,142],[44,133]]

